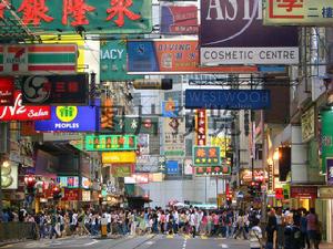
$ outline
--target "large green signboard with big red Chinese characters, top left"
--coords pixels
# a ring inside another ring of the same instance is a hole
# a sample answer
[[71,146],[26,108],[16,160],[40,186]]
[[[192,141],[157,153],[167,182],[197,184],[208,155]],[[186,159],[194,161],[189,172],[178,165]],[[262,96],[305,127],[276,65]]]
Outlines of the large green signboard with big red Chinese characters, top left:
[[[36,33],[152,31],[151,0],[12,0],[11,3],[23,24]],[[7,14],[4,11],[4,18]]]

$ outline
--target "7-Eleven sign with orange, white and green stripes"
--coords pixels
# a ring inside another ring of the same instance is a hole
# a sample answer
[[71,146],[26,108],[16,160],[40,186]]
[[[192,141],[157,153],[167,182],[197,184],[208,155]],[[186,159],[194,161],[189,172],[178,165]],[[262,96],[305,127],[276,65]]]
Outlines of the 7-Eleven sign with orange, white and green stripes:
[[75,73],[77,60],[77,44],[0,45],[0,74]]

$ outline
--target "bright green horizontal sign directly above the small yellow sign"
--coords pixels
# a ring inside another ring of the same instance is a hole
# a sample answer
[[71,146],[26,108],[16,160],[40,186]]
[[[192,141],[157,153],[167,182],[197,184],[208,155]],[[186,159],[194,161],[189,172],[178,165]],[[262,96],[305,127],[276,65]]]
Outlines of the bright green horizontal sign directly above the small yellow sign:
[[85,151],[114,152],[138,149],[138,137],[134,135],[87,135]]

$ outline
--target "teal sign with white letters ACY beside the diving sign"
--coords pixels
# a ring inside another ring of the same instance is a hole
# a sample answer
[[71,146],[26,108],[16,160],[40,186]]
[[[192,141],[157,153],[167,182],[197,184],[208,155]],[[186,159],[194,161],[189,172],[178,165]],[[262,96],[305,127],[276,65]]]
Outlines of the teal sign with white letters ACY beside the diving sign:
[[142,75],[127,74],[127,40],[101,41],[101,81],[130,81],[143,77]]

